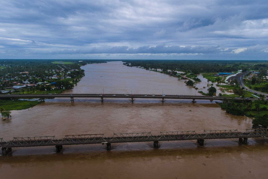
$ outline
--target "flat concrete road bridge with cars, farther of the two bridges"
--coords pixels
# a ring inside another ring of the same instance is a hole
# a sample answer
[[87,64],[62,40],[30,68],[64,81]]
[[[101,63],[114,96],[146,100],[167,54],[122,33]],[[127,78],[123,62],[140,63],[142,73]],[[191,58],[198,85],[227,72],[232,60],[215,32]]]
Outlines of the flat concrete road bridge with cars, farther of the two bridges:
[[154,95],[154,94],[21,94],[21,95],[0,95],[0,99],[19,99],[19,98],[35,98],[35,99],[49,99],[49,98],[70,98],[74,101],[74,98],[100,98],[101,101],[104,98],[128,98],[134,101],[134,98],[150,98],[150,99],[191,99],[195,100],[224,100],[233,99],[234,101],[252,101],[257,98],[232,98],[232,97],[212,97],[212,96],[189,96],[189,95]]

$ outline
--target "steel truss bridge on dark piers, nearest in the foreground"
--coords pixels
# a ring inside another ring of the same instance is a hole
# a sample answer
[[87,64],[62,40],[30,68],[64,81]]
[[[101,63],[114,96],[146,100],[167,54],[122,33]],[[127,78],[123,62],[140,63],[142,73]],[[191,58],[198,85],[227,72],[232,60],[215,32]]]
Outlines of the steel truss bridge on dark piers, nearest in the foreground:
[[232,139],[239,138],[239,142],[247,144],[248,138],[266,137],[268,128],[265,129],[246,129],[243,132],[238,130],[204,130],[201,134],[195,131],[173,131],[160,132],[152,135],[150,132],[140,133],[114,133],[112,137],[105,137],[104,134],[82,134],[65,135],[63,139],[56,139],[55,136],[39,137],[14,137],[11,141],[0,138],[2,154],[6,155],[14,147],[37,147],[37,146],[56,146],[56,152],[60,152],[63,145],[78,144],[106,144],[106,149],[111,150],[111,143],[123,142],[154,142],[154,148],[158,148],[159,141],[175,140],[197,140],[197,144],[204,146],[205,139]]

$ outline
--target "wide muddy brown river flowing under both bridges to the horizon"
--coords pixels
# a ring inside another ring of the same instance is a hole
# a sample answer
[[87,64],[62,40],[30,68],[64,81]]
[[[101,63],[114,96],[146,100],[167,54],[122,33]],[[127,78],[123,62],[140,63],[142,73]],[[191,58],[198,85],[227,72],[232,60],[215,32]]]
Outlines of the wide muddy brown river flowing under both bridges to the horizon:
[[[183,80],[127,67],[122,62],[83,66],[85,77],[65,93],[96,94],[173,94],[199,95],[198,90],[185,86]],[[207,92],[206,79],[197,86]],[[220,91],[217,90],[217,94]],[[12,118],[0,122],[0,138],[104,134],[160,131],[237,129],[252,127],[246,116],[233,116],[221,110],[215,101],[135,99],[46,99],[27,110],[12,111]],[[56,153],[54,146],[12,148],[0,154],[3,179],[176,179],[176,178],[266,178],[268,171],[268,140],[238,139],[151,143],[88,144],[63,146]]]

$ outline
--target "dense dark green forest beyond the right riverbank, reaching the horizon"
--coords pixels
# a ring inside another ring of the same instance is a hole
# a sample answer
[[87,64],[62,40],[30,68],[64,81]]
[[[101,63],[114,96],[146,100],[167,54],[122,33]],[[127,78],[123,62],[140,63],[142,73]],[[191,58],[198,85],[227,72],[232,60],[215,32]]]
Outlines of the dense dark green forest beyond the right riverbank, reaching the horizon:
[[246,60],[123,60],[126,65],[145,69],[162,69],[163,73],[183,71],[195,74],[210,72],[236,72],[268,68],[267,61]]

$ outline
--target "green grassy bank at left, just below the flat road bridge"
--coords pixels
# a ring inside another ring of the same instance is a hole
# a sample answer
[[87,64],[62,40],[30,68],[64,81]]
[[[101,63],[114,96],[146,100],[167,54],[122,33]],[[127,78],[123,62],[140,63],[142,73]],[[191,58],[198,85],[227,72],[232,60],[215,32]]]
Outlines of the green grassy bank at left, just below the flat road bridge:
[[0,100],[0,108],[4,111],[28,109],[43,101],[28,101],[28,100]]

